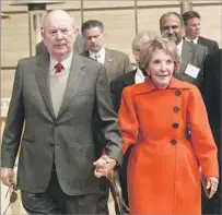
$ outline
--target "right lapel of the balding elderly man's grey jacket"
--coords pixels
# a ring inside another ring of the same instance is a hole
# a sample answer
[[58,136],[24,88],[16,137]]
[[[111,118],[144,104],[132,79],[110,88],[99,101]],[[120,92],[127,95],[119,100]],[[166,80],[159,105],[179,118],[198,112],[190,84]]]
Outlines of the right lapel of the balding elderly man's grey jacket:
[[69,80],[67,83],[67,89],[57,118],[62,115],[62,112],[69,106],[69,103],[72,100],[75,93],[78,92],[80,83],[82,82],[85,75],[83,67],[83,59],[78,55],[73,55]]

